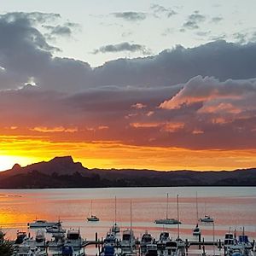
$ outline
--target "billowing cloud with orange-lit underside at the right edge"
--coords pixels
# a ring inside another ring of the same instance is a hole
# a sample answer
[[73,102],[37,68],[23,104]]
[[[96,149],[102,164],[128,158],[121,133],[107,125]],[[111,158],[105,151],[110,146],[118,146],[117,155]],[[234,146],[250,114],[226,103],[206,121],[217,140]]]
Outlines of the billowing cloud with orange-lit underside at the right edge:
[[231,102],[241,102],[243,97],[245,97],[243,102],[246,102],[254,93],[256,94],[256,79],[238,81],[229,79],[220,82],[212,77],[197,76],[190,79],[184,85],[183,90],[180,90],[171,100],[162,102],[160,108],[178,109],[195,103],[203,103],[204,106],[200,108],[202,109],[211,103],[224,111],[224,109],[230,109]]

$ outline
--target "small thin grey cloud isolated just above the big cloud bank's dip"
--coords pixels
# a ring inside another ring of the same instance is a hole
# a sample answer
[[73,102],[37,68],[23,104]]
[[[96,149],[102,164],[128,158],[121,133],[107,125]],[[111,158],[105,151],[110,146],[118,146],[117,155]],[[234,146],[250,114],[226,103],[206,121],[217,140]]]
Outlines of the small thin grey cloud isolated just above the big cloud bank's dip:
[[143,55],[149,55],[150,50],[147,49],[142,44],[130,44],[128,42],[120,43],[120,44],[108,44],[100,47],[99,49],[95,49],[93,54],[98,53],[108,53],[108,52],[120,52],[120,51],[130,51],[136,52],[139,51],[143,53]]

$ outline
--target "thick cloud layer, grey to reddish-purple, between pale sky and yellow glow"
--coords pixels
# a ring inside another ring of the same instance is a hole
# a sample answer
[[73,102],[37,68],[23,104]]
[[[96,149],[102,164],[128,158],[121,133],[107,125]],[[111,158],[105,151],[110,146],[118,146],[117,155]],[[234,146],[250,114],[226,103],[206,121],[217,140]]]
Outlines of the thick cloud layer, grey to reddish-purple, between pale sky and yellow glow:
[[[54,57],[55,47],[26,15],[2,15],[0,34],[4,127],[70,125],[84,132],[105,125],[108,134],[94,139],[122,140],[125,134],[125,143],[133,144],[255,148],[256,44],[177,46],[92,68]],[[38,87],[17,90],[29,80]]]

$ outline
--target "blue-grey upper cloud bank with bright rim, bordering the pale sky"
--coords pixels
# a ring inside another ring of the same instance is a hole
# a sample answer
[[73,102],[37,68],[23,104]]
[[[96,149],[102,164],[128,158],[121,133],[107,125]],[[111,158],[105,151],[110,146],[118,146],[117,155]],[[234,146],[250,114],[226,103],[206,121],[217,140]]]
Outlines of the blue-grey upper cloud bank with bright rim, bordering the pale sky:
[[[0,32],[4,35],[0,38],[0,90],[18,89],[30,81],[41,90],[79,92],[112,85],[173,86],[198,74],[220,80],[256,77],[256,44],[253,43],[232,44],[222,40],[194,48],[177,45],[158,55],[108,61],[92,68],[84,61],[55,57],[55,47],[48,44],[35,26],[12,16],[11,21],[7,16],[0,17]],[[141,44],[113,44],[110,50],[124,49],[124,46],[141,50],[137,52],[146,50]]]

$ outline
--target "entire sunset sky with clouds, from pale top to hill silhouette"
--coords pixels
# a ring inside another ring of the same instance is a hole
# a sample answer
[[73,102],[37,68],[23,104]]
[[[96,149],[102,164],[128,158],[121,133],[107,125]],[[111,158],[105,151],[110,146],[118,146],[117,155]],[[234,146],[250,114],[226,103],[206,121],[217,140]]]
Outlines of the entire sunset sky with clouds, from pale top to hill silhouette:
[[0,171],[256,167],[255,0],[3,0]]

